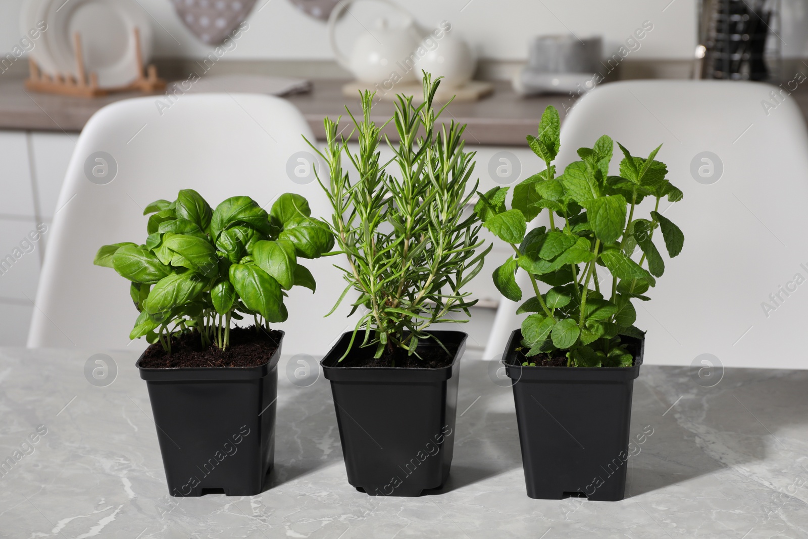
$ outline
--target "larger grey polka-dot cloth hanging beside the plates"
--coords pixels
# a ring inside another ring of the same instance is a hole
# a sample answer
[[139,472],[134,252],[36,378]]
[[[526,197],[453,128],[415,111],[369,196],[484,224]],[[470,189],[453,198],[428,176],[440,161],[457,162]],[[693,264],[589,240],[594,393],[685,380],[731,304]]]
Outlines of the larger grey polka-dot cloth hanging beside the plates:
[[183,24],[203,43],[221,44],[247,15],[256,0],[172,0]]

